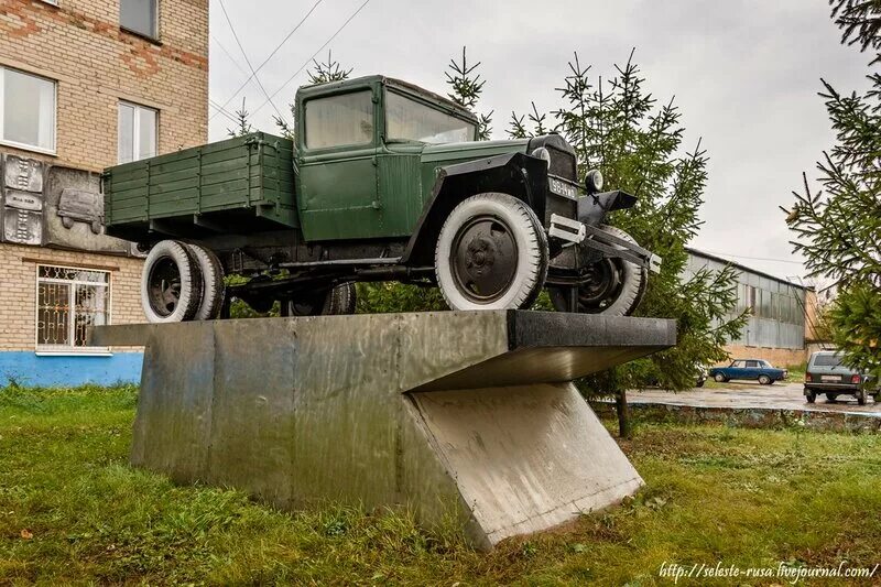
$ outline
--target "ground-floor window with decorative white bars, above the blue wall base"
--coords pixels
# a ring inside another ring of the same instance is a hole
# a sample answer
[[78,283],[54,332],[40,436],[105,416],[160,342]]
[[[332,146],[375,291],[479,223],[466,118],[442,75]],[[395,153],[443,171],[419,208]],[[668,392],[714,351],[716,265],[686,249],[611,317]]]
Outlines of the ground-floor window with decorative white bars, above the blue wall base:
[[37,350],[80,349],[89,326],[110,323],[110,273],[52,265],[36,271]]

